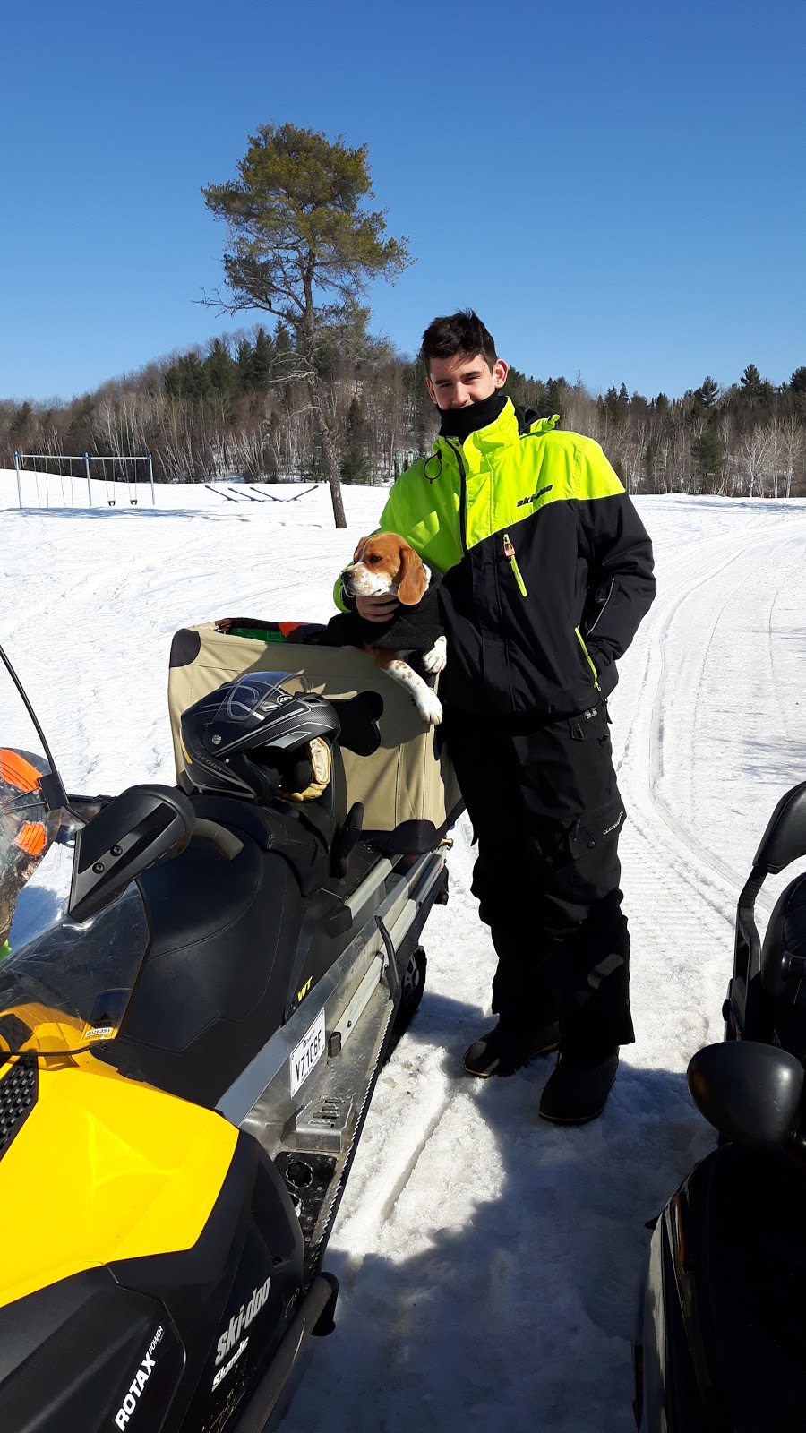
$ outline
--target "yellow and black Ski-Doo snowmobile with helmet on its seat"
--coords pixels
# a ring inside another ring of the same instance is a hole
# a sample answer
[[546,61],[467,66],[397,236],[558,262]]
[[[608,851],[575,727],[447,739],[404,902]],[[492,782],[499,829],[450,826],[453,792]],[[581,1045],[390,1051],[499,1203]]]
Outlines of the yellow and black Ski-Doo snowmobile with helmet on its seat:
[[336,820],[366,706],[284,682],[185,712],[192,790],[93,801],[0,692],[3,1433],[258,1433],[333,1328],[327,1240],[446,867]]

